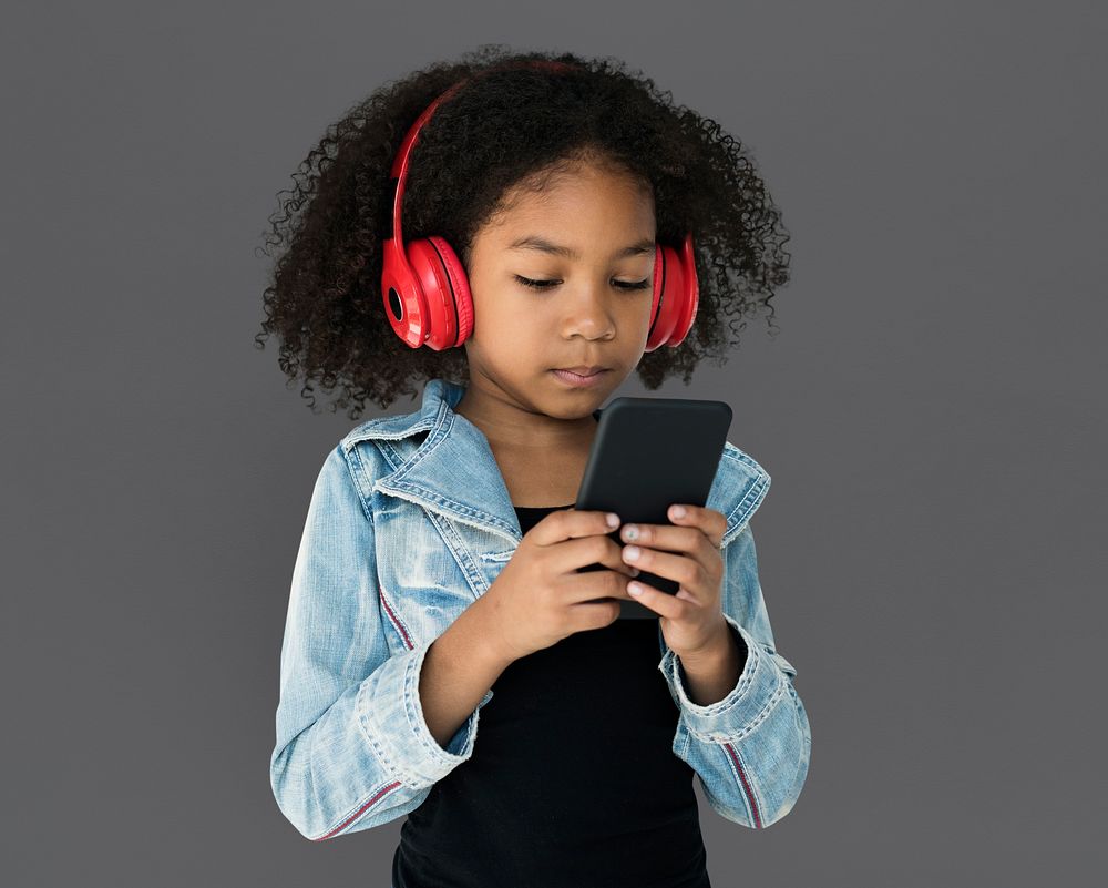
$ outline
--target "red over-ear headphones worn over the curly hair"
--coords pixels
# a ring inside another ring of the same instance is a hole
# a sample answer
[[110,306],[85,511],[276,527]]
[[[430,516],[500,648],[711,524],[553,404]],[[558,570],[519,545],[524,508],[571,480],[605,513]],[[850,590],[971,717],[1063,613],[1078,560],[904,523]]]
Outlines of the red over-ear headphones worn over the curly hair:
[[[573,68],[562,62],[532,62],[556,70]],[[462,345],[473,331],[473,298],[465,269],[451,246],[441,237],[412,241],[407,249],[400,229],[400,204],[408,178],[408,159],[423,124],[443,101],[463,83],[455,83],[435,99],[412,124],[392,162],[392,236],[383,244],[381,295],[384,310],[397,336],[411,348],[421,345],[441,351]],[[684,341],[699,303],[693,235],[686,234],[679,248],[657,244],[654,254],[654,302],[646,350],[660,345],[676,348]]]

